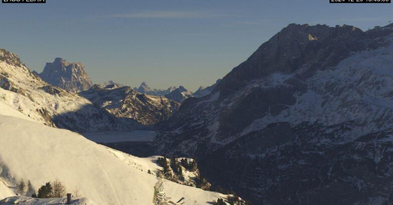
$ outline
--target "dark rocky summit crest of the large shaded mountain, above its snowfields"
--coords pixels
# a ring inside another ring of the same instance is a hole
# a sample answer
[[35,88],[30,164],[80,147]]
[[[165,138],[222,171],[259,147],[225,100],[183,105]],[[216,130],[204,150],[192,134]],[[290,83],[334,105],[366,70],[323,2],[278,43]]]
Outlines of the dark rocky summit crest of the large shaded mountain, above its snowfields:
[[382,40],[375,41],[375,38],[386,35],[388,31],[363,32],[348,25],[290,24],[235,67],[213,92],[220,91],[220,96],[224,96],[272,73],[297,73],[306,79],[317,70],[336,66],[351,52],[380,47]]

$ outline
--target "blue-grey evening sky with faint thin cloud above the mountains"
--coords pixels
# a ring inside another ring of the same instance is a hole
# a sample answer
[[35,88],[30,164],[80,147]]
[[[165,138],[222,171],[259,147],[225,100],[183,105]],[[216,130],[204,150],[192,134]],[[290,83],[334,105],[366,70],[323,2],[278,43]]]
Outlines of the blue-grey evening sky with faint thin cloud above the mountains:
[[0,4],[0,48],[41,72],[61,57],[82,62],[93,83],[153,88],[213,84],[291,23],[393,22],[392,4],[329,0],[46,0]]

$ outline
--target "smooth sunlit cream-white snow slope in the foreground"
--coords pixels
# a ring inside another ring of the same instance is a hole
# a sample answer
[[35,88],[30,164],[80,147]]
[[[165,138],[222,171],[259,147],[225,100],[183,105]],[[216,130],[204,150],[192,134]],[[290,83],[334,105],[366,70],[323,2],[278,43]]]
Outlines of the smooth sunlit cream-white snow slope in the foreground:
[[[150,158],[137,158],[95,144],[83,136],[0,115],[0,179],[10,186],[21,178],[37,190],[54,179],[72,192],[78,187],[83,197],[96,204],[152,204],[157,182],[157,165]],[[164,192],[184,204],[209,204],[224,197],[214,192],[164,180]],[[175,202],[176,202],[175,201]]]

